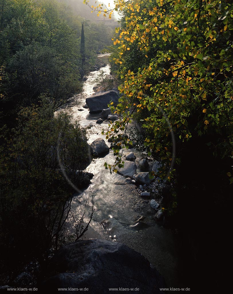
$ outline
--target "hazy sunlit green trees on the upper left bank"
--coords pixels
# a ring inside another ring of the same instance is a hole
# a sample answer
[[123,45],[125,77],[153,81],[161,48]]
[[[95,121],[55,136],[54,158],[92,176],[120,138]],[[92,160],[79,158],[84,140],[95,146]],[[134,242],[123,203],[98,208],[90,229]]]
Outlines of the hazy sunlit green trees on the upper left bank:
[[21,106],[40,104],[41,94],[56,110],[80,92],[97,52],[111,42],[111,30],[87,23],[55,0],[1,3],[0,119],[10,125]]

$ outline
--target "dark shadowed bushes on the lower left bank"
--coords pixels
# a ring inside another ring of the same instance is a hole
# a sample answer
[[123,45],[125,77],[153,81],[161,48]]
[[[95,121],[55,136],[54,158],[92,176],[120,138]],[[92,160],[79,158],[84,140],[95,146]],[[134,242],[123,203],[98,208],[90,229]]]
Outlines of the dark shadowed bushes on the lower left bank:
[[58,247],[74,191],[60,168],[78,186],[76,170],[89,158],[85,130],[66,113],[55,117],[49,105],[22,109],[11,138],[1,133],[0,269],[11,280],[29,261],[44,264]]

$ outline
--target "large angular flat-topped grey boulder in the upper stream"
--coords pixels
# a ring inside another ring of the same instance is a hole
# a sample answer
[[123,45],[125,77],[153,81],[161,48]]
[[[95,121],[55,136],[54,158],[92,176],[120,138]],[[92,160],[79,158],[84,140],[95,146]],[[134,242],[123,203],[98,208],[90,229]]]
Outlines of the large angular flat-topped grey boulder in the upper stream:
[[108,108],[110,101],[118,104],[119,95],[117,92],[111,90],[104,93],[96,93],[93,96],[86,98],[86,104],[90,112],[100,112]]

